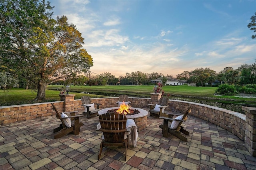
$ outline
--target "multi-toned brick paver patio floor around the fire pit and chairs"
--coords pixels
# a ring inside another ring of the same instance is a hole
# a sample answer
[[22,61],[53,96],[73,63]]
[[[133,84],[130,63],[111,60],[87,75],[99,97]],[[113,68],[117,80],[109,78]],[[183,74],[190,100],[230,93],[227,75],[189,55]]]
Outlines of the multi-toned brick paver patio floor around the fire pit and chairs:
[[[60,120],[55,116],[0,125],[1,170],[256,170],[256,158],[244,142],[230,132],[188,116],[184,127],[188,142],[162,137],[163,120],[148,116],[148,126],[138,132],[137,147],[102,150],[98,117],[81,118],[79,135],[53,139]],[[131,144],[132,142],[130,142]]]

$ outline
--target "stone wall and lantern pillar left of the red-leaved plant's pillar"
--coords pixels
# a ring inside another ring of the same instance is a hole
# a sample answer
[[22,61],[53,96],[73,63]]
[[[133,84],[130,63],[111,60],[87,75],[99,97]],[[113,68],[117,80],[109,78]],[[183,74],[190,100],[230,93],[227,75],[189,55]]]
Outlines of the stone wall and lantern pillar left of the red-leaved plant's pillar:
[[[74,100],[74,94],[60,95],[62,101],[54,102],[59,112],[68,111],[83,111],[84,107],[81,106],[80,99]],[[116,102],[119,98],[92,98],[93,103],[99,103],[100,108],[117,107]],[[147,108],[148,103],[151,103],[150,98],[131,98],[132,106],[137,108]],[[35,118],[41,118],[46,116],[55,115],[52,110],[51,102],[35,103],[35,104],[21,104],[13,106],[1,106],[0,107],[0,124],[9,124],[14,122],[20,122],[24,120],[30,120]]]

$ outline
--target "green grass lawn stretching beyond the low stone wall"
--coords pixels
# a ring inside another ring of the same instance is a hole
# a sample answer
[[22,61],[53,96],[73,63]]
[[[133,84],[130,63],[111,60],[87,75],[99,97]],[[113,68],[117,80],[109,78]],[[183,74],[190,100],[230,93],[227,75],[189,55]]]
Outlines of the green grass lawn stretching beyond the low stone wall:
[[[118,94],[130,94],[149,96],[153,93],[154,86],[70,86],[70,94],[76,94],[75,99],[88,95],[80,92],[116,92]],[[46,90],[46,101],[59,101],[60,92],[58,90],[64,88],[62,85],[49,85]],[[50,90],[54,89],[54,90]],[[56,90],[58,89],[58,90]],[[214,96],[217,87],[194,87],[194,86],[164,86],[164,94],[173,96],[190,96],[194,98],[214,98],[219,100],[236,100],[236,101],[252,101],[256,102],[256,98],[240,98],[235,96]],[[72,92],[77,91],[77,92]],[[37,92],[34,90],[25,90],[23,88],[12,88],[8,91],[0,90],[0,106],[29,104],[35,103]],[[100,95],[89,95],[91,98],[107,97]],[[42,101],[38,101],[42,102]]]

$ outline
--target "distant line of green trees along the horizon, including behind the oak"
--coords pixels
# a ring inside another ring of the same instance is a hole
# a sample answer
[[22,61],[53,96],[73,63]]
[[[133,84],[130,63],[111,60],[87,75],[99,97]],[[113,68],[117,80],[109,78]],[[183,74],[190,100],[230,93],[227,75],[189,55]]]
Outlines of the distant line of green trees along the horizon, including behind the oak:
[[[143,73],[140,71],[126,73],[125,76],[119,76],[116,78],[109,72],[102,74],[97,74],[93,76],[77,76],[72,74],[68,76],[65,80],[59,80],[54,82],[54,84],[73,84],[75,86],[107,86],[107,85],[152,85],[150,82],[156,78],[162,78],[163,84],[166,83],[166,77],[173,77],[167,74],[166,76],[162,73]],[[210,68],[196,68],[192,71],[184,71],[177,75],[180,80],[186,80],[188,84],[194,83],[196,86],[212,86],[215,80],[220,83],[217,84],[256,84],[256,62],[254,64],[243,64],[238,69],[233,69],[232,67],[226,67],[218,74],[216,71]],[[20,86],[22,88],[27,88],[26,81],[24,78],[19,78],[18,76],[12,76],[8,73],[1,73],[0,76],[0,86],[2,89],[8,89],[11,87]],[[216,84],[215,84],[216,86]]]

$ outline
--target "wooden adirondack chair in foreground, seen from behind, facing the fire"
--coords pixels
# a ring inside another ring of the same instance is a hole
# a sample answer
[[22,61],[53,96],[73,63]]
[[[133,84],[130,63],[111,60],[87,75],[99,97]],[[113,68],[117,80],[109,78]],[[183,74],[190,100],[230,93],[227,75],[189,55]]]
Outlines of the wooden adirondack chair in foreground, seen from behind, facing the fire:
[[102,141],[98,154],[98,160],[104,146],[124,146],[125,147],[125,161],[127,156],[128,140],[124,139],[127,132],[126,129],[127,118],[123,114],[118,113],[105,113],[99,116],[100,131],[102,131]]

